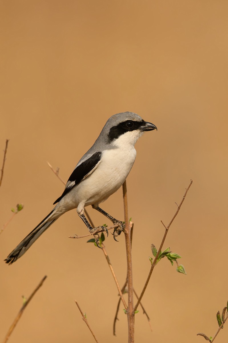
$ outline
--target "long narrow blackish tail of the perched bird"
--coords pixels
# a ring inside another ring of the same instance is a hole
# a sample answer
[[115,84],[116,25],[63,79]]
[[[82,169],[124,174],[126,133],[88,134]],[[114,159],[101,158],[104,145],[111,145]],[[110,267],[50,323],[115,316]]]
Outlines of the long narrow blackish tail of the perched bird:
[[[12,264],[15,262],[18,258],[20,258],[24,253],[30,248],[30,246],[37,240],[37,238],[42,235],[47,228],[53,224],[56,219],[58,219],[59,216],[55,216],[54,219],[51,219],[52,216],[55,214],[55,208],[45,217],[42,222],[40,222],[33,231],[30,232],[18,246],[13,249],[13,251],[8,255],[8,257],[5,259],[5,263]],[[60,214],[61,215],[61,214]]]

